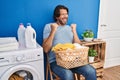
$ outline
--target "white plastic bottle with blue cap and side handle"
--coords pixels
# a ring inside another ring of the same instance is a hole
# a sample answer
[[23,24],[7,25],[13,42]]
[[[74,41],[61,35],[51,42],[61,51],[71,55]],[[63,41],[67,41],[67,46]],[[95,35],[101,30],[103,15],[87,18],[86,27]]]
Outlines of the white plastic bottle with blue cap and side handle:
[[32,28],[31,23],[27,23],[27,28],[25,30],[25,42],[27,48],[36,48],[36,32]]

